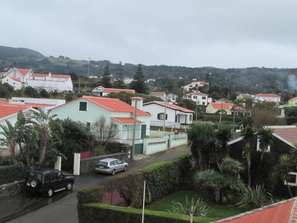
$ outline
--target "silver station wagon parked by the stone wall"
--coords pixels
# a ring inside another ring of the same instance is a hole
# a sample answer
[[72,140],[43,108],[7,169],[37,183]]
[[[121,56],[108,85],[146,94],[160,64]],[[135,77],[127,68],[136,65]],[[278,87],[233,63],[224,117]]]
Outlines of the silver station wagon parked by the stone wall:
[[119,159],[106,158],[100,160],[95,165],[95,170],[99,173],[109,173],[114,175],[119,171],[127,171],[128,164],[120,161]]

